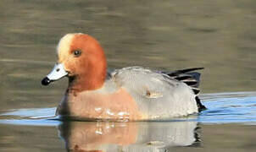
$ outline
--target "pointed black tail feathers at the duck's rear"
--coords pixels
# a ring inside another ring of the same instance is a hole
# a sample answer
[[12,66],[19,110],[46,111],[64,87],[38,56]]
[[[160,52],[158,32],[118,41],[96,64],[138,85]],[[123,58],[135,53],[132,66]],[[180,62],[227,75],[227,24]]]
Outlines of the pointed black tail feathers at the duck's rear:
[[198,98],[198,95],[200,93],[200,89],[198,87],[200,84],[201,74],[198,72],[193,72],[195,70],[200,70],[200,69],[203,69],[203,68],[186,68],[186,69],[176,70],[176,71],[165,73],[165,74],[169,75],[173,79],[182,81],[188,86],[190,86],[194,94],[196,95],[198,111],[203,111],[206,109],[206,107],[203,106],[200,99]]

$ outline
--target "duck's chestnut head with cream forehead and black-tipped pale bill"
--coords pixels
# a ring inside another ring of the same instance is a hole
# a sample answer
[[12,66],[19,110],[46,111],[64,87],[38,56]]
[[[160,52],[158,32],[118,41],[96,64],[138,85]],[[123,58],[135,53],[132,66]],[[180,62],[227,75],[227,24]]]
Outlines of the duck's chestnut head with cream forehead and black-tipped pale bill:
[[42,79],[47,85],[65,76],[77,90],[96,90],[103,85],[107,62],[103,48],[90,35],[67,34],[57,46],[58,62],[51,73]]

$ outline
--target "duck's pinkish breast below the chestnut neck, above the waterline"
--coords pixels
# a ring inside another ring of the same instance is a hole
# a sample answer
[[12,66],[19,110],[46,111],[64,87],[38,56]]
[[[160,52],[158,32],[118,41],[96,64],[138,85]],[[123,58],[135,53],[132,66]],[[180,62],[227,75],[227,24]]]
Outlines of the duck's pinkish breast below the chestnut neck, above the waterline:
[[141,118],[136,101],[125,89],[111,94],[91,91],[70,94],[60,107],[66,110],[60,113],[85,119],[134,121]]

